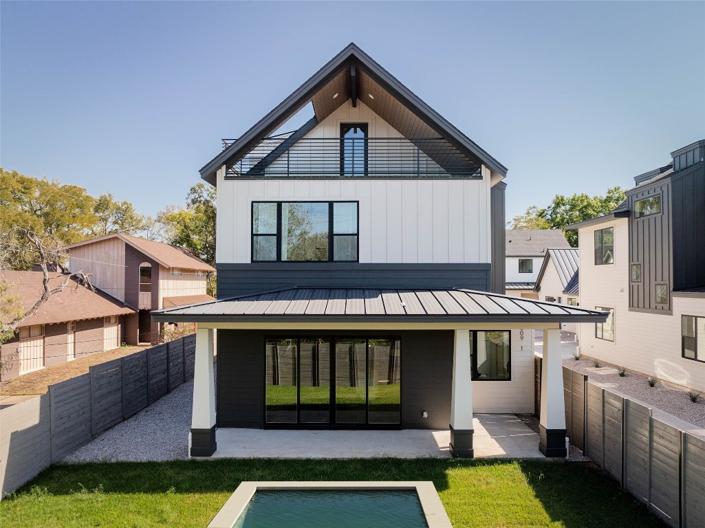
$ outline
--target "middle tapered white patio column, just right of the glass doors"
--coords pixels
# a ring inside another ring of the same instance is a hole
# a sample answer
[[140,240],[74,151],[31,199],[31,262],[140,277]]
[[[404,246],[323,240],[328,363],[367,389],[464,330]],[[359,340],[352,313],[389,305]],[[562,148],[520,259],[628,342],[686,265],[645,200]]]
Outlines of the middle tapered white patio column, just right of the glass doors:
[[472,458],[472,377],[470,331],[455,330],[453,385],[450,393],[450,454]]

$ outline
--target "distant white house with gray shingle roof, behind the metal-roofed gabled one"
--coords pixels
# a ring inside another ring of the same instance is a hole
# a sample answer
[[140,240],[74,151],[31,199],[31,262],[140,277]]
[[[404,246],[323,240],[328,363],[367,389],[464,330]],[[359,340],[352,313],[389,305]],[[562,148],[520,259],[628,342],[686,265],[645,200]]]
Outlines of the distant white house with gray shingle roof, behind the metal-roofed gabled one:
[[541,263],[549,247],[569,248],[560,229],[508,229],[506,240],[507,295],[538,299],[534,292]]

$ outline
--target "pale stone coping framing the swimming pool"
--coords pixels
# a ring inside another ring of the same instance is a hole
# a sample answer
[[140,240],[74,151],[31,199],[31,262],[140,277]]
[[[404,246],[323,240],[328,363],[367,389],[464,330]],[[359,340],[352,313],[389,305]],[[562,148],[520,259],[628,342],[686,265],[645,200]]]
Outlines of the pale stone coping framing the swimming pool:
[[419,496],[429,528],[453,528],[436,486],[431,481],[243,481],[213,517],[208,528],[233,528],[235,521],[259,489],[413,489]]

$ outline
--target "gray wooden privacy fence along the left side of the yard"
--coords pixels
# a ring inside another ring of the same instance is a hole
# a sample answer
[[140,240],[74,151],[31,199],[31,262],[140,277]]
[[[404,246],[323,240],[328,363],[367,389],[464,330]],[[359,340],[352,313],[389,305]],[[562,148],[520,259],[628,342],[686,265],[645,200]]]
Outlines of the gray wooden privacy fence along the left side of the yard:
[[49,386],[0,411],[0,497],[193,378],[191,334]]

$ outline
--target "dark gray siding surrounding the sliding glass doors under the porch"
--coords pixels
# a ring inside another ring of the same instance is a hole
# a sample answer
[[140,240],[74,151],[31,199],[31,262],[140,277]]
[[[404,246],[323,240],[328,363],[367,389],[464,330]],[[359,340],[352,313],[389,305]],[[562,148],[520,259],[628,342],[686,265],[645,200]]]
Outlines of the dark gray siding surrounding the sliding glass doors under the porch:
[[[355,336],[401,338],[402,426],[447,429],[453,372],[453,331],[357,331]],[[264,426],[265,336],[350,336],[350,332],[218,331],[219,427]],[[429,413],[428,418],[422,412]]]

